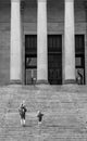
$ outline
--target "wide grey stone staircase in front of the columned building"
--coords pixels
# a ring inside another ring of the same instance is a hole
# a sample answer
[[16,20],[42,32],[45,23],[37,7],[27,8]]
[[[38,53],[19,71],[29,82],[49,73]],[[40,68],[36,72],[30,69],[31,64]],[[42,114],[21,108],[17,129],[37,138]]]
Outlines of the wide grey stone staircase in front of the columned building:
[[[26,126],[18,106],[25,100]],[[44,113],[38,125],[37,111]],[[7,86],[0,88],[0,141],[87,141],[86,86]]]

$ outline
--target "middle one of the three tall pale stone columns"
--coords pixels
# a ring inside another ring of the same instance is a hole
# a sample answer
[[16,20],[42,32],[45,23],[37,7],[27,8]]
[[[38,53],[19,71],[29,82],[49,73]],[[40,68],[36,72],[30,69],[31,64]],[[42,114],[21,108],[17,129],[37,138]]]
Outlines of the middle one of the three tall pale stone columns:
[[48,84],[47,0],[37,4],[37,84]]

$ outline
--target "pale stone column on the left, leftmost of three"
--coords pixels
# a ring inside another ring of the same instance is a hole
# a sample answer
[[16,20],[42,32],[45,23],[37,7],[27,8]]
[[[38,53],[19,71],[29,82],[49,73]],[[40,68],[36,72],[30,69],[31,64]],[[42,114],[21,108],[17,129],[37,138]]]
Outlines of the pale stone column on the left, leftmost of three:
[[22,82],[21,0],[11,0],[10,81]]

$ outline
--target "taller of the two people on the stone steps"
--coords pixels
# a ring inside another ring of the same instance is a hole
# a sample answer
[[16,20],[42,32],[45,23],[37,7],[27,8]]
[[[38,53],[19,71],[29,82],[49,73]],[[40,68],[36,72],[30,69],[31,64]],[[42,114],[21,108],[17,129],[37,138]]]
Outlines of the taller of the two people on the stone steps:
[[22,104],[18,108],[18,112],[20,112],[20,116],[21,116],[21,125],[25,126],[25,114],[26,114],[27,110],[26,110],[24,101],[22,102]]

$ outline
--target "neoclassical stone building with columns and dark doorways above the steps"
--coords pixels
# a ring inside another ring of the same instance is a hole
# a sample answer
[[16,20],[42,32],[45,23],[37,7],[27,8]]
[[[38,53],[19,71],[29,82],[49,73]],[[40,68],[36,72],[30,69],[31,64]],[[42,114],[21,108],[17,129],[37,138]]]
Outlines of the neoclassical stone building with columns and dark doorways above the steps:
[[87,0],[0,0],[0,85],[87,84]]

